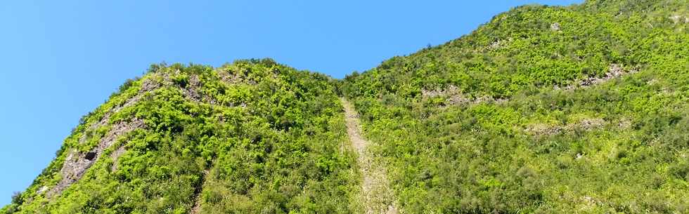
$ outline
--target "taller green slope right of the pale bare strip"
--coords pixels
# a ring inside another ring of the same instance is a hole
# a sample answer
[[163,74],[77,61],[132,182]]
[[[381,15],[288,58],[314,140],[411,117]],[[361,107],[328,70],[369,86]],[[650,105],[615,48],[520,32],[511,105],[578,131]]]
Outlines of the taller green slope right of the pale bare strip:
[[687,213],[688,8],[522,6],[342,91],[407,213]]

